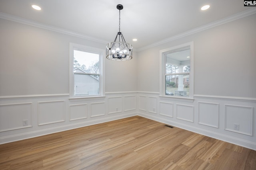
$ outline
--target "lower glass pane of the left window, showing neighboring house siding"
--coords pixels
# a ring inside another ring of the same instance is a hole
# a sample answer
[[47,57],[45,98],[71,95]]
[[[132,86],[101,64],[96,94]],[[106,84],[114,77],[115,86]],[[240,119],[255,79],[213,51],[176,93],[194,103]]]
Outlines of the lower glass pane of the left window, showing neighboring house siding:
[[98,95],[100,82],[97,75],[74,74],[74,94],[75,96]]

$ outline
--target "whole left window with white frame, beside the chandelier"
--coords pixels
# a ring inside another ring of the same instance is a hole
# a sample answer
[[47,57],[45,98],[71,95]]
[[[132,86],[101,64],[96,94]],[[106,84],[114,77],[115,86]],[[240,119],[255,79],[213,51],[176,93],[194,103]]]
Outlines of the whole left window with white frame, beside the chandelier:
[[104,51],[70,43],[70,97],[104,95]]

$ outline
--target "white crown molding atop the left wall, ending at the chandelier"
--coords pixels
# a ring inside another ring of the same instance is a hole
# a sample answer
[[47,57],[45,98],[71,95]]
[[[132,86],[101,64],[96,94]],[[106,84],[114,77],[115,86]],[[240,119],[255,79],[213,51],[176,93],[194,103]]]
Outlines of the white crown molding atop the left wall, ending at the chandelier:
[[55,31],[55,32],[58,32],[58,33],[63,33],[63,34],[71,35],[71,36],[74,36],[74,37],[87,39],[87,40],[90,40],[90,41],[96,41],[98,43],[104,43],[104,44],[108,43],[108,41],[106,41],[104,39],[99,39],[99,38],[92,37],[92,36],[89,36],[89,35],[84,35],[84,34],[81,34],[81,33],[74,32],[74,31],[69,31],[67,29],[62,29],[62,28],[59,28],[59,27],[54,27],[54,26],[51,26],[51,25],[42,24],[42,23],[39,23],[39,22],[36,22],[36,21],[27,20],[27,19],[24,19],[24,18],[20,18],[20,17],[13,16],[13,15],[6,14],[6,13],[2,13],[2,12],[0,12],[0,18],[3,18],[5,20],[10,20],[10,21],[23,23],[23,24],[26,24],[26,25],[31,25],[31,26],[34,26],[34,27],[48,29],[50,31]]

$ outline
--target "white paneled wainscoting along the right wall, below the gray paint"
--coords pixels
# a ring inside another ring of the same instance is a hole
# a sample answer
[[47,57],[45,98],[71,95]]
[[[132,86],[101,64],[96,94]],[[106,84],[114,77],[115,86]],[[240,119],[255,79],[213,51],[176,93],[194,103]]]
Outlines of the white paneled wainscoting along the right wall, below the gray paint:
[[182,100],[138,92],[138,99],[142,117],[256,150],[255,98],[194,95],[194,100]]

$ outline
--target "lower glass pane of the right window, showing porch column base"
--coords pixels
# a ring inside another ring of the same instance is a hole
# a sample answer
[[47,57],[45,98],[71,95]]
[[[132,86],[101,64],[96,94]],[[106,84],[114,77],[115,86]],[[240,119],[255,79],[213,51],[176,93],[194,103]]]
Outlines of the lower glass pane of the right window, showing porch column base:
[[165,76],[166,95],[189,96],[189,74]]

